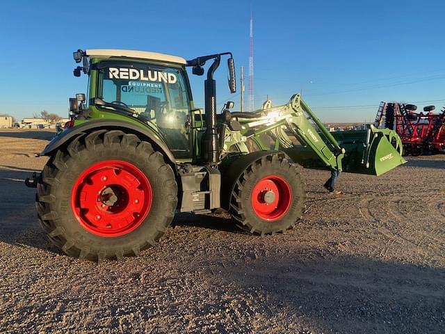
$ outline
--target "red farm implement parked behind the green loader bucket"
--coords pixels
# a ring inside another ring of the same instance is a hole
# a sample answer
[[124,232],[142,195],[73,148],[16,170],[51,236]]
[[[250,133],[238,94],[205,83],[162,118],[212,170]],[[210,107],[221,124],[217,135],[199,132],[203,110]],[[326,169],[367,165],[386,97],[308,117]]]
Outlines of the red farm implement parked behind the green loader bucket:
[[401,137],[405,155],[445,152],[445,109],[434,113],[435,106],[416,112],[414,104],[380,102],[376,127],[393,129]]

